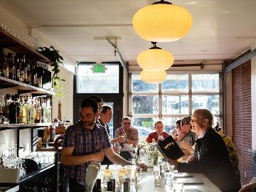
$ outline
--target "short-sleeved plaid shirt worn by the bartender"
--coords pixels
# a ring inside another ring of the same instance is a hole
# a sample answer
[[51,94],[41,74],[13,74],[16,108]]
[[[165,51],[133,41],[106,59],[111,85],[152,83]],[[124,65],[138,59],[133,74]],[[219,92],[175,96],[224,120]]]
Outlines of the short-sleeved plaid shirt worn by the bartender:
[[[63,147],[75,147],[73,155],[94,154],[111,147],[105,127],[95,124],[90,130],[86,129],[81,121],[68,127],[65,131]],[[65,178],[74,178],[78,183],[85,185],[85,173],[90,162],[76,166],[65,166]]]

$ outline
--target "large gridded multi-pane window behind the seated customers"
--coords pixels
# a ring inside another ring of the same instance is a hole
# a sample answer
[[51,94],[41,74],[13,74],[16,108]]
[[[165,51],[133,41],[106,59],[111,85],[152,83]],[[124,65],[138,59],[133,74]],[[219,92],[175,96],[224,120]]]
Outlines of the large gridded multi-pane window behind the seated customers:
[[145,83],[133,74],[130,82],[129,114],[134,127],[153,129],[154,122],[161,119],[166,131],[171,132],[178,119],[198,108],[208,109],[222,120],[218,73],[169,74],[159,84]]

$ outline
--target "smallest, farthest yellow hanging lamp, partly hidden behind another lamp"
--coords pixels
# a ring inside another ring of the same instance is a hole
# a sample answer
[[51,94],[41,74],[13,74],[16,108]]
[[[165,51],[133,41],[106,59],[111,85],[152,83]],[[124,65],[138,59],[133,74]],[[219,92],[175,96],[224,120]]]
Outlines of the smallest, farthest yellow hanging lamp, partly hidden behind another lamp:
[[142,70],[140,78],[147,83],[160,83],[166,79],[164,70]]

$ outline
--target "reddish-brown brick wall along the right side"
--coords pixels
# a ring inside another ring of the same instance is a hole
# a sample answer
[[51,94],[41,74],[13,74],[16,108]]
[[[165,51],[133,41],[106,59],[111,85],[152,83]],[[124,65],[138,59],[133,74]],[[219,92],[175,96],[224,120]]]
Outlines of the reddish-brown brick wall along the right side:
[[[232,71],[233,140],[238,149],[241,184],[252,179],[251,65],[244,63]],[[245,177],[246,171],[246,177]]]

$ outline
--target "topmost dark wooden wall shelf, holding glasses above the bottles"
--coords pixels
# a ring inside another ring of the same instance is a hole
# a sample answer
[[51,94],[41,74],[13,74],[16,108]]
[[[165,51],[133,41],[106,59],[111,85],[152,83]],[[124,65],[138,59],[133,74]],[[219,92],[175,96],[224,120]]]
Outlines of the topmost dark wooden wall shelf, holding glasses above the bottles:
[[28,55],[28,57],[36,58],[42,62],[50,63],[50,60],[46,56],[34,50],[30,46],[23,43],[20,39],[14,37],[9,32],[0,27],[0,47],[9,48],[18,55]]

